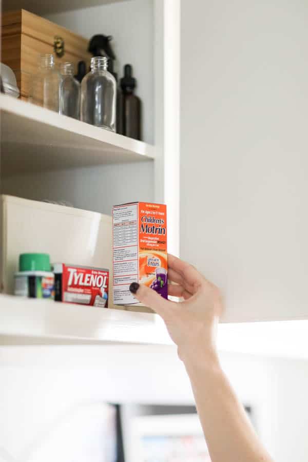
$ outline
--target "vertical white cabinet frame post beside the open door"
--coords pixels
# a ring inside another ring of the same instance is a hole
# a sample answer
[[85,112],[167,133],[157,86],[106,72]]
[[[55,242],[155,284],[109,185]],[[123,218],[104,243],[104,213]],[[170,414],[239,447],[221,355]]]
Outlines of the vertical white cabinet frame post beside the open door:
[[155,0],[153,14],[155,200],[167,205],[168,251],[179,255],[180,0]]

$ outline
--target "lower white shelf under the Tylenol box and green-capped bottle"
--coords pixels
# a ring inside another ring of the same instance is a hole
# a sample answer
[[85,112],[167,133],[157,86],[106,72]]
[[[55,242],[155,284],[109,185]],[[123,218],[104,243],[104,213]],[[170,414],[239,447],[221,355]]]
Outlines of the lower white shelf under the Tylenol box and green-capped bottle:
[[150,313],[0,295],[0,344],[171,344]]

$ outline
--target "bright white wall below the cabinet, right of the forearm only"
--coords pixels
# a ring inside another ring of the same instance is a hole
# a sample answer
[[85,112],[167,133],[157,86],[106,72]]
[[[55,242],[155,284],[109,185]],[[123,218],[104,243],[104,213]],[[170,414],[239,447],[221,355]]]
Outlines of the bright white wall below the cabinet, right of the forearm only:
[[308,362],[223,355],[238,396],[253,408],[257,431],[275,462],[304,462],[308,454]]

